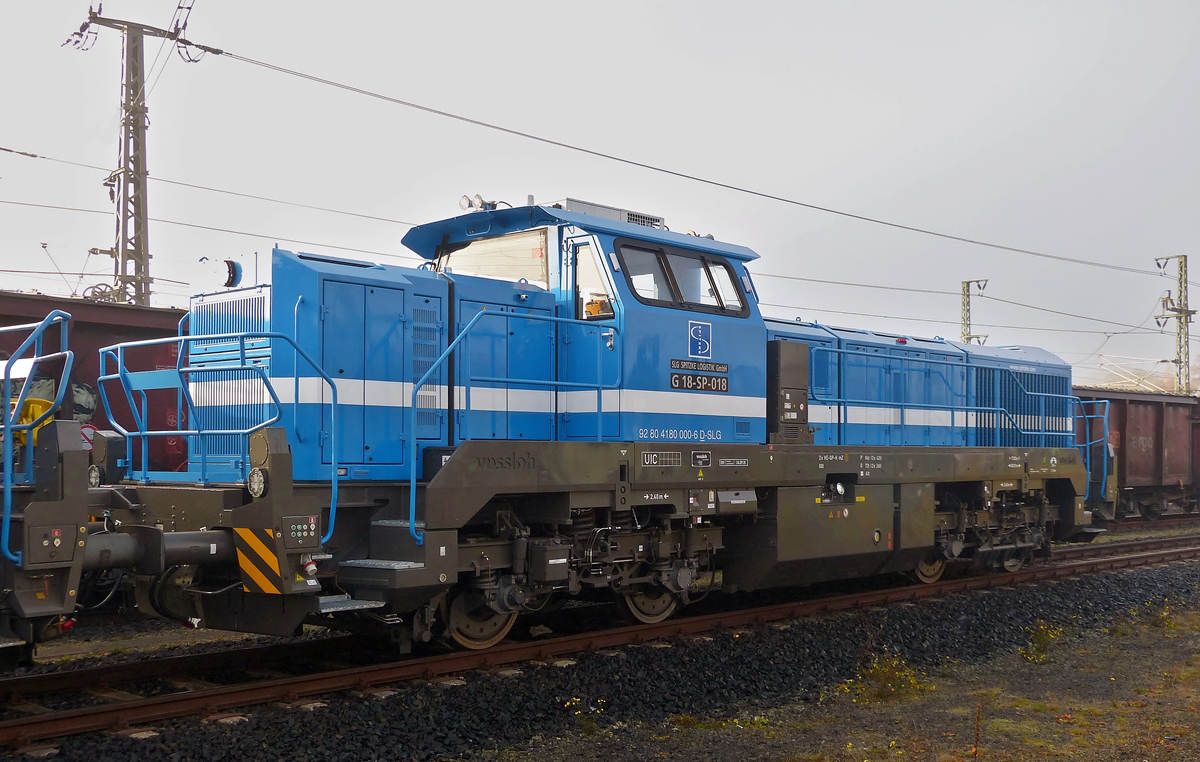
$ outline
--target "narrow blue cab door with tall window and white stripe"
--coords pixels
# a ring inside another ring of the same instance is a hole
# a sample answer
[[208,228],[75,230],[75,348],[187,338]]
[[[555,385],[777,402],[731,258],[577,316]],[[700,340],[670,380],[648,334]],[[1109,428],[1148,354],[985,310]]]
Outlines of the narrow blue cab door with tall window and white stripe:
[[[620,336],[612,282],[590,239],[568,241],[566,252],[564,287],[574,304],[560,314],[586,324],[559,324],[558,379],[587,386],[559,388],[558,430],[563,439],[617,439]],[[611,389],[601,396],[598,386]]]

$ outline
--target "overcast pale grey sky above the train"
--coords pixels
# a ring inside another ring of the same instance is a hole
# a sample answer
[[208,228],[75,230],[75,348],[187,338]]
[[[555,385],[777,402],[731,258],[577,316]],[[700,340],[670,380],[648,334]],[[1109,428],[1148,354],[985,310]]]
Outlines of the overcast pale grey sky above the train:
[[[1181,2],[234,2],[196,0],[188,37],[432,108],[809,204],[1048,254],[1154,270],[1195,250],[1200,5]],[[120,35],[60,48],[80,0],[5,0],[0,146],[113,167]],[[174,1],[108,0],[164,26]],[[148,42],[148,65],[157,52]],[[163,65],[166,64],[164,68]],[[161,68],[161,76],[160,76]],[[956,337],[960,282],[990,344],[1148,370],[1146,325],[1171,277],[892,229],[499,134],[222,56],[163,50],[149,94],[152,178],[389,220],[458,212],[463,193],[565,196],[666,217],[756,250],[778,317]],[[104,172],[0,152],[0,202],[110,211]],[[156,304],[210,289],[203,256],[253,270],[271,245],[380,262],[407,227],[164,182],[152,217]],[[0,203],[5,269],[110,271],[100,214]],[[301,245],[292,241],[311,241]],[[265,268],[264,268],[265,271]],[[1200,282],[1200,258],[1193,263]],[[787,281],[766,274],[949,292]],[[74,287],[77,278],[68,278]],[[104,280],[84,278],[84,284]],[[56,275],[4,288],[68,293]],[[1193,304],[1200,304],[1200,292]],[[877,317],[888,316],[888,317]],[[1116,325],[1115,325],[1115,324]],[[1018,328],[998,328],[1018,326]],[[1056,330],[1028,330],[1032,328]],[[1200,331],[1198,331],[1200,332]],[[1198,347],[1200,349],[1200,347]],[[1097,350],[1099,354],[1097,354]],[[1200,355],[1200,352],[1195,354]],[[1160,366],[1163,367],[1163,366]]]

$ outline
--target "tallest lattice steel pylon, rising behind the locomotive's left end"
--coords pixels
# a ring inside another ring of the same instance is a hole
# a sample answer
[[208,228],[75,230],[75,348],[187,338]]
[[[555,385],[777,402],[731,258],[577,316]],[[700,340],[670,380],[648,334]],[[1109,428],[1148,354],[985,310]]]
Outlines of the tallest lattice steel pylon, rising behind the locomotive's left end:
[[[148,26],[137,22],[104,18],[88,11],[88,22],[64,44],[86,50],[96,34],[91,26],[116,29],[125,38],[124,77],[121,82],[121,143],[116,169],[104,185],[116,202],[116,238],[112,248],[92,248],[94,254],[107,254],[113,262],[113,284],[94,286],[85,296],[102,301],[121,301],[149,306],[154,278],[150,277],[150,216],[146,205],[146,74],[145,38],[161,37],[180,41],[187,28],[186,13],[193,0],[184,0],[176,10],[170,30]],[[182,22],[178,19],[182,18]]]

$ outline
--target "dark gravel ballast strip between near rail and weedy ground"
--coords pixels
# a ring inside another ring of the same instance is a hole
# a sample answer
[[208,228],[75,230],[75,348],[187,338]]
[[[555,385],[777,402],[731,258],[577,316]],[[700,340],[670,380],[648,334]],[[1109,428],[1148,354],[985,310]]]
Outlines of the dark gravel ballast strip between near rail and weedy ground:
[[1082,637],[1147,604],[1190,607],[1200,564],[1091,575],[1061,582],[954,594],[785,625],[762,625],[666,644],[580,654],[565,666],[520,665],[464,684],[409,683],[390,695],[342,694],[300,709],[258,706],[246,721],[167,721],[151,738],[94,734],[62,739],[59,758],[104,760],[430,760],[530,748],[581,727],[653,722],[671,715],[752,713],[815,700],[889,650],[930,670],[1028,643],[1045,622]]

